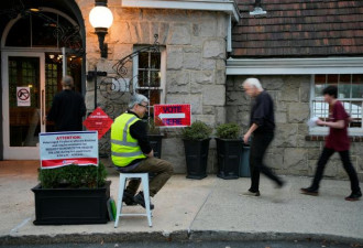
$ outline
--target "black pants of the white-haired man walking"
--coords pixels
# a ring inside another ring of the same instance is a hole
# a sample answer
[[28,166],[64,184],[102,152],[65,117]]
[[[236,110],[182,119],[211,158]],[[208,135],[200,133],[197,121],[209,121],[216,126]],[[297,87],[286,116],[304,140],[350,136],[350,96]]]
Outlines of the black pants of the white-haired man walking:
[[251,192],[258,191],[260,172],[262,172],[268,179],[275,181],[277,185],[283,185],[283,181],[263,163],[265,152],[273,139],[274,133],[255,133],[253,136],[250,150]]

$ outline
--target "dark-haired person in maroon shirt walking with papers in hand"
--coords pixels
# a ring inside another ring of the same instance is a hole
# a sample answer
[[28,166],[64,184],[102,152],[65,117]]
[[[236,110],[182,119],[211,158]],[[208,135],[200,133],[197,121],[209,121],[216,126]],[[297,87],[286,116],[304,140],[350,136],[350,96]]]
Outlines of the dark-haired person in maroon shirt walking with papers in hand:
[[326,145],[318,160],[312,184],[309,187],[302,187],[301,193],[307,195],[318,195],[319,184],[322,179],[326,164],[334,152],[339,152],[344,170],[351,181],[352,193],[346,196],[345,200],[358,201],[362,196],[362,192],[356,172],[349,155],[350,140],[348,137],[348,123],[350,122],[350,117],[346,114],[342,103],[337,99],[338,88],[336,86],[328,86],[323,89],[322,94],[324,101],[329,104],[329,121],[318,119],[316,123],[319,126],[329,127],[329,134],[326,139]]

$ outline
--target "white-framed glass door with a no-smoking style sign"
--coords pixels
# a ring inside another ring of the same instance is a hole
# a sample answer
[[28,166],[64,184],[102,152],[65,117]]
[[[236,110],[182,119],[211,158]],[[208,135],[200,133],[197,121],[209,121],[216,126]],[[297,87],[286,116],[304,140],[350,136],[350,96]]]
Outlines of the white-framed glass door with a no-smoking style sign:
[[45,131],[44,53],[2,53],[3,158],[37,160]]

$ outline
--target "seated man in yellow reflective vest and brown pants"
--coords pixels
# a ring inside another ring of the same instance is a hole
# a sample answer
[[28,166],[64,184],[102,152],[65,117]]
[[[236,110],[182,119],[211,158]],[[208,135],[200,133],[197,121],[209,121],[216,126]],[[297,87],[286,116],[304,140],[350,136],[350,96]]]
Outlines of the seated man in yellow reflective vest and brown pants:
[[[174,173],[173,165],[154,158],[154,151],[147,139],[146,123],[141,119],[148,108],[148,99],[135,94],[129,103],[129,110],[116,118],[111,126],[111,157],[116,170],[120,173],[153,173],[150,181],[150,196],[155,196]],[[131,180],[123,192],[122,201],[127,205],[140,204],[145,207],[143,192],[138,192],[140,180]],[[154,208],[150,204],[151,209]]]

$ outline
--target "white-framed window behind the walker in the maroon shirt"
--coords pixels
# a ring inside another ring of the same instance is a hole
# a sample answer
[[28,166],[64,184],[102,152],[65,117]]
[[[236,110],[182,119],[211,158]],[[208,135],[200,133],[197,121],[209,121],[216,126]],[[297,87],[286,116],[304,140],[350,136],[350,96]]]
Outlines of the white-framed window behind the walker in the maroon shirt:
[[[323,101],[322,89],[328,85],[338,87],[338,99],[342,101],[352,121],[349,123],[350,134],[363,134],[363,75],[362,74],[329,74],[315,75],[311,87],[311,117],[322,120],[329,117],[329,105]],[[327,127],[310,128],[311,134],[327,134]]]

